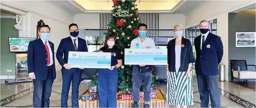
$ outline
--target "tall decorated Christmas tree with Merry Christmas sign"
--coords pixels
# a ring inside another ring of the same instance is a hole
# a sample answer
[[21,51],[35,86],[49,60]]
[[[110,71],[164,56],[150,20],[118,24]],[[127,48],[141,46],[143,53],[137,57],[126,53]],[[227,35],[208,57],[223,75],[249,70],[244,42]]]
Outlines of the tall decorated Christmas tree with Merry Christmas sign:
[[[117,47],[121,51],[123,65],[118,68],[118,90],[126,94],[132,89],[132,65],[124,65],[124,49],[130,48],[133,39],[139,36],[138,25],[141,24],[138,13],[136,0],[113,0],[113,14],[111,14],[111,22],[108,24],[106,36],[114,35],[117,40]],[[93,75],[91,87],[97,86],[97,74]],[[154,70],[152,70],[152,84],[159,83],[157,81]],[[141,82],[141,85],[143,82]],[[143,89],[141,87],[141,89]]]

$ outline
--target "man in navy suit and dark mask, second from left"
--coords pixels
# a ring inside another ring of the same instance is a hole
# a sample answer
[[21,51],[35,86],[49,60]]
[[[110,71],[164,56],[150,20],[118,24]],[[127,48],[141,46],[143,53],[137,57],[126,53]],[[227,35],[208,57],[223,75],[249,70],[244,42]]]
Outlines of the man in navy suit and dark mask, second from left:
[[[78,87],[82,77],[82,69],[84,68],[71,68],[68,61],[69,51],[88,52],[86,41],[79,38],[79,29],[77,24],[69,25],[70,36],[60,41],[56,53],[56,58],[62,67],[62,92],[61,92],[61,107],[67,108],[68,92],[70,83],[72,81],[72,108],[78,108]],[[64,59],[63,59],[64,54]]]

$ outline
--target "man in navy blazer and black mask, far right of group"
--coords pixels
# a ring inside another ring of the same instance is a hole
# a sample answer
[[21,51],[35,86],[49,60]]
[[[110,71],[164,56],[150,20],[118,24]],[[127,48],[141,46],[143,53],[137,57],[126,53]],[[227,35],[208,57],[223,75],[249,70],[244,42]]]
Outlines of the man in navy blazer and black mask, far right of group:
[[208,108],[209,95],[212,108],[220,108],[218,65],[223,57],[223,44],[219,36],[209,32],[209,22],[201,21],[201,35],[195,38],[197,52],[196,73],[201,108]]

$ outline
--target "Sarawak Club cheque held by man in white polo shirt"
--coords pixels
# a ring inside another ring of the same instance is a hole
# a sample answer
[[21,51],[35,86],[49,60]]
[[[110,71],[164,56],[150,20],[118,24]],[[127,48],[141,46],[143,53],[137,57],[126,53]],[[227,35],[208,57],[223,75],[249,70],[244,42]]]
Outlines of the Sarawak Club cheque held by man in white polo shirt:
[[167,65],[167,49],[125,49],[125,65]]

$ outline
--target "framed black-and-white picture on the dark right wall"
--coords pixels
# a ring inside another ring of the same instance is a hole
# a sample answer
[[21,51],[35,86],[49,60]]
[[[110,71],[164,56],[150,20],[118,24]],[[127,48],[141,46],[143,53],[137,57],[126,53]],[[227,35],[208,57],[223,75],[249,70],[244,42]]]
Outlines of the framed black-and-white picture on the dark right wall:
[[236,32],[236,47],[256,47],[255,32]]

